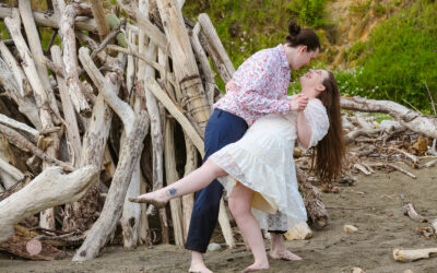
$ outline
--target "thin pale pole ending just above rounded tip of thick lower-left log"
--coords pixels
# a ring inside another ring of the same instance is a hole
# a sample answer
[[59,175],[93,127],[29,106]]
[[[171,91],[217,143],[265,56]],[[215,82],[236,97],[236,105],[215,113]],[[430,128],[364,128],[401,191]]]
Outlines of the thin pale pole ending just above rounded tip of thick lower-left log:
[[[52,46],[51,49],[51,58],[54,62],[63,69],[61,49],[58,46]],[[81,135],[79,133],[78,120],[75,118],[75,112],[73,108],[73,104],[71,103],[70,95],[68,94],[68,88],[66,84],[66,80],[61,78],[59,74],[56,75],[56,81],[58,83],[59,94],[61,96],[62,109],[63,109],[63,119],[67,124],[67,140],[70,143],[71,149],[71,158],[73,166],[80,166],[81,158]]]

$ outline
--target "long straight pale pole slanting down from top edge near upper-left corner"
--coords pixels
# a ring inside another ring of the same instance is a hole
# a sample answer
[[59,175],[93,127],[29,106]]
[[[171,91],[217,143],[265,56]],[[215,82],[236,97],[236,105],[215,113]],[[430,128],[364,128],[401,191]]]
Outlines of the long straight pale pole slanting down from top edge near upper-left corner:
[[55,123],[60,123],[58,117],[60,116],[58,105],[56,103],[55,93],[48,78],[47,68],[44,64],[44,51],[42,41],[39,39],[39,32],[35,25],[34,16],[31,9],[31,1],[19,1],[20,15],[23,22],[24,29],[26,32],[28,47],[32,52],[32,57],[35,62],[38,76],[43,83],[44,90],[47,93],[48,104],[50,109],[55,112],[52,120]]

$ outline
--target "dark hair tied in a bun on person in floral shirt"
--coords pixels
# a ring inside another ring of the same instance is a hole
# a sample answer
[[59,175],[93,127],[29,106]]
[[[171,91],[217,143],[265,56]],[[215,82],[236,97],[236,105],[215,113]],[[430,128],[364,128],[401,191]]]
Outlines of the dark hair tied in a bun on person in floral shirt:
[[295,22],[288,23],[288,35],[285,44],[291,47],[307,46],[308,51],[320,49],[320,41],[317,34],[311,28],[300,28]]

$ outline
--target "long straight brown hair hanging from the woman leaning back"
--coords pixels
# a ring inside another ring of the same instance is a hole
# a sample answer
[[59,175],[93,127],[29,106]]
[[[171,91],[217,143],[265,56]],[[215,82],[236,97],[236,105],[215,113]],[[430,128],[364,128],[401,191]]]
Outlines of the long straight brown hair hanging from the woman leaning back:
[[331,182],[339,177],[345,153],[339,87],[332,72],[328,71],[328,74],[323,81],[326,90],[317,97],[327,108],[329,129],[312,153],[312,168],[322,182]]

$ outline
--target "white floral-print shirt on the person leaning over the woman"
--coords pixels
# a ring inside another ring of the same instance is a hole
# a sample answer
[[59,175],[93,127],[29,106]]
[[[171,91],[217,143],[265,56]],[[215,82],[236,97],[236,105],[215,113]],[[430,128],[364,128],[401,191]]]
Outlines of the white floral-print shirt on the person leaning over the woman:
[[248,126],[267,114],[287,114],[290,73],[283,45],[260,50],[234,73],[214,108],[245,119]]

